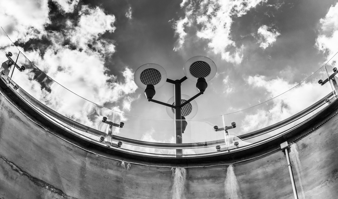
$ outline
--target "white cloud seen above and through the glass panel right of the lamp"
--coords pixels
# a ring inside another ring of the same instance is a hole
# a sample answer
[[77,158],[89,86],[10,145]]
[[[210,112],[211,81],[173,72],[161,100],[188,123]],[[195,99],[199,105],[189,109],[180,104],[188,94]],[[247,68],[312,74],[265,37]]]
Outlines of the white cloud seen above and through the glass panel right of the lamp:
[[[266,98],[275,98],[241,111],[243,134],[282,121],[314,104],[331,91],[329,86],[320,86],[317,81],[316,78],[309,78],[297,85],[281,78],[267,80],[266,76],[249,76],[247,83],[250,86],[266,90]],[[287,92],[283,93],[285,91]]]

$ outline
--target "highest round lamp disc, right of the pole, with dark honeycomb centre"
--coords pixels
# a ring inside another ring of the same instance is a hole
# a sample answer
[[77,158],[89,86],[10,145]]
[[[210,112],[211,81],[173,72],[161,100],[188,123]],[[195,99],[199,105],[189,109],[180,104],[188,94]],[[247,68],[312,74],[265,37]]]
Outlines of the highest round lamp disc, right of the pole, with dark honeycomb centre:
[[187,78],[193,82],[197,82],[198,78],[204,78],[208,82],[216,75],[217,68],[211,59],[196,56],[184,64],[183,71]]

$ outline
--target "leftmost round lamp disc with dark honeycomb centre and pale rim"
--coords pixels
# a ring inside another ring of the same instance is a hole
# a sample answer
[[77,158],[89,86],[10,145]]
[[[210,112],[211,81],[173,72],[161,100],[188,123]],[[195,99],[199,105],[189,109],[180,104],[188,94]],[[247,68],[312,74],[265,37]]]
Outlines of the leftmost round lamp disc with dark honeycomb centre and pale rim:
[[134,80],[142,89],[146,89],[148,84],[158,89],[166,83],[167,72],[158,64],[144,64],[135,71]]

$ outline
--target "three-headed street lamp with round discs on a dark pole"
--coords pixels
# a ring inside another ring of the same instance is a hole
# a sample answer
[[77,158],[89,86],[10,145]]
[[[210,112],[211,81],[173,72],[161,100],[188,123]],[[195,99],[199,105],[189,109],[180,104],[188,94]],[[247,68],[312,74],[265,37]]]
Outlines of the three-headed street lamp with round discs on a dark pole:
[[[190,119],[197,113],[196,97],[203,94],[208,87],[207,82],[216,74],[215,63],[204,56],[190,58],[183,67],[185,76],[180,80],[167,79],[164,68],[158,64],[144,64],[140,66],[134,74],[136,84],[144,90],[144,94],[149,102],[155,102],[167,106],[167,113],[175,119],[175,143],[182,143],[182,133],[187,126],[185,119]],[[193,97],[181,96],[181,83],[185,80],[196,82],[199,93]],[[174,96],[168,103],[154,100],[155,90],[161,88],[165,82],[174,84]],[[176,149],[176,155],[183,155],[182,149]]]

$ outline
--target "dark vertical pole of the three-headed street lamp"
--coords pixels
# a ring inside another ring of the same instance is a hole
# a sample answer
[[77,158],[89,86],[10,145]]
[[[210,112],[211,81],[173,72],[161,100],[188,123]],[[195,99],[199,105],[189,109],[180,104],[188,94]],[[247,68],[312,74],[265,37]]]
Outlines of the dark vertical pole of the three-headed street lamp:
[[[182,143],[181,83],[176,81],[175,89],[175,143]],[[183,155],[182,149],[176,149],[176,157]]]

